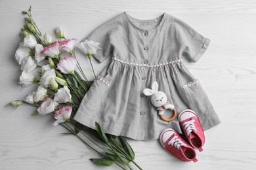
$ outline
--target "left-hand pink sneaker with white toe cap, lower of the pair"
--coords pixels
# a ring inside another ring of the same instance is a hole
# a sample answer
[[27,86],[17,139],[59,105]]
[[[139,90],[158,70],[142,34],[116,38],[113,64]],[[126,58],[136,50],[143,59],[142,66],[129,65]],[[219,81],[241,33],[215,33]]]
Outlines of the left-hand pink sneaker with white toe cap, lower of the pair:
[[182,137],[173,129],[165,129],[160,135],[160,143],[173,156],[182,161],[198,161],[196,152]]

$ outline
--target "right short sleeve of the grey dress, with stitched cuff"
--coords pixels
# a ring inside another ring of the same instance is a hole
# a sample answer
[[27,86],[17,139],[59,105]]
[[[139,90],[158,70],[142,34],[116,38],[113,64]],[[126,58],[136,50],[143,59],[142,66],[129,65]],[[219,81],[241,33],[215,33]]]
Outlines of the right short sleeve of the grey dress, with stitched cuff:
[[188,56],[193,62],[198,61],[209,46],[211,40],[203,37],[179,18],[174,18],[175,36],[182,54]]

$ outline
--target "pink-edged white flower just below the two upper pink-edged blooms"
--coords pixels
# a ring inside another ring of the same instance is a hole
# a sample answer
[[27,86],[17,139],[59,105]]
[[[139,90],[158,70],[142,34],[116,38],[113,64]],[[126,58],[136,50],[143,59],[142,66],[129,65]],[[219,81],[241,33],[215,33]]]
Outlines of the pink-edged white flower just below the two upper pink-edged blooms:
[[57,63],[57,69],[59,69],[64,74],[74,74],[75,65],[76,59],[74,58],[74,56],[67,56],[64,59],[60,60],[59,63]]

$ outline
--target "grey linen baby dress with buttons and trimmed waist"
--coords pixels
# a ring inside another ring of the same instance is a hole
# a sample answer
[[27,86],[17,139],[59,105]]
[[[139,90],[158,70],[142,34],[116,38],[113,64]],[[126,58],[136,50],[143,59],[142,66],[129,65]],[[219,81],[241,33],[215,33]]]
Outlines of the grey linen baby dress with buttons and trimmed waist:
[[[161,120],[150,97],[142,93],[154,81],[178,114],[194,110],[204,130],[221,122],[200,81],[182,63],[183,57],[198,61],[210,40],[179,18],[164,12],[139,20],[122,12],[85,39],[100,43],[93,55],[99,62],[112,60],[83,97],[74,116],[77,122],[93,129],[98,122],[106,133],[143,141],[158,139],[168,127],[181,133],[177,118]],[[165,110],[165,117],[171,114]]]

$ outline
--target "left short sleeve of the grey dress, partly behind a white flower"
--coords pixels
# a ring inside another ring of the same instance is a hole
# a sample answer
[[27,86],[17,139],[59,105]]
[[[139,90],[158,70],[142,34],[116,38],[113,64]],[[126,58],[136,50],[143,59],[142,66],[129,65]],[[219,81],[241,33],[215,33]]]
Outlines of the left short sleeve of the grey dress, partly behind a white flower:
[[117,26],[116,17],[104,22],[96,27],[85,39],[98,42],[100,47],[93,56],[100,62],[104,61],[108,56],[111,56],[113,51],[112,46],[112,30]]

